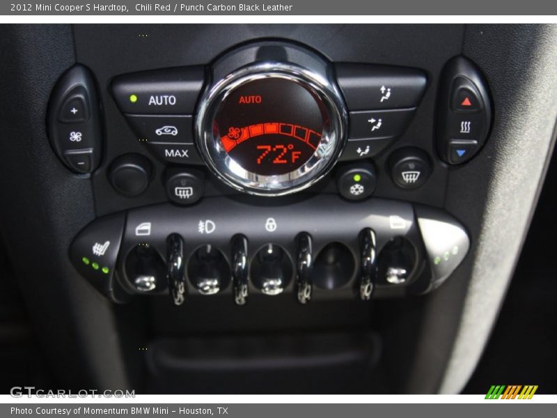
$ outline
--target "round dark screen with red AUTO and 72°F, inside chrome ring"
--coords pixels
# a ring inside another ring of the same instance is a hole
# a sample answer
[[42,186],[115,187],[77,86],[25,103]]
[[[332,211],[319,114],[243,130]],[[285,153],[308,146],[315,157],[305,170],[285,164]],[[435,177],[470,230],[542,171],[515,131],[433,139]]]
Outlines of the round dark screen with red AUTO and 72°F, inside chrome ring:
[[214,130],[228,155],[251,173],[303,166],[321,142],[325,112],[308,88],[287,78],[254,79],[221,102]]

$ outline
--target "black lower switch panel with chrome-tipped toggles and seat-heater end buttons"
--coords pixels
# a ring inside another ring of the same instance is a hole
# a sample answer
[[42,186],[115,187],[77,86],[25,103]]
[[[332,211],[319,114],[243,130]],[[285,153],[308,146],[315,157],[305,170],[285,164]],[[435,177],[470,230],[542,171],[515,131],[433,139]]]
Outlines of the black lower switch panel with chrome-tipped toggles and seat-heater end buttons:
[[215,197],[95,219],[70,257],[115,302],[169,292],[182,304],[218,293],[242,305],[253,293],[292,293],[306,304],[431,291],[468,249],[462,226],[426,206],[370,199],[356,207],[324,195],[269,207]]

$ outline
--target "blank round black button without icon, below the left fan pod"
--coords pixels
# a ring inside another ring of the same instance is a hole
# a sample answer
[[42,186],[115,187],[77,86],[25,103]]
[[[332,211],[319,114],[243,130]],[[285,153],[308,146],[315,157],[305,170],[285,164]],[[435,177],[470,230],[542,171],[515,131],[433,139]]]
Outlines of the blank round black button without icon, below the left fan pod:
[[143,193],[149,185],[150,177],[151,163],[139,154],[126,154],[116,158],[109,171],[112,187],[129,197]]

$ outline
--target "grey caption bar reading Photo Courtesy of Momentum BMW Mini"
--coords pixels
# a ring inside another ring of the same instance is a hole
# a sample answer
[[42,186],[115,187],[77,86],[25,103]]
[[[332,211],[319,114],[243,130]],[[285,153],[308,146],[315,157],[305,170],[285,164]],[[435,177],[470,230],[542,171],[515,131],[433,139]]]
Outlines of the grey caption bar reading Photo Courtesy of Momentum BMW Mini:
[[[483,396],[478,395],[483,399]],[[554,416],[555,405],[528,403],[528,401],[484,401],[482,403],[438,403],[438,404],[132,404],[132,403],[18,403],[0,405],[2,417],[222,417],[222,418],[284,418],[284,417],[368,417],[391,416],[411,417],[428,416],[469,418],[483,416],[488,410],[493,411],[497,405],[497,415],[505,418],[524,417],[528,408],[528,417]],[[528,406],[521,404],[528,403]],[[551,410],[554,412],[552,413]]]

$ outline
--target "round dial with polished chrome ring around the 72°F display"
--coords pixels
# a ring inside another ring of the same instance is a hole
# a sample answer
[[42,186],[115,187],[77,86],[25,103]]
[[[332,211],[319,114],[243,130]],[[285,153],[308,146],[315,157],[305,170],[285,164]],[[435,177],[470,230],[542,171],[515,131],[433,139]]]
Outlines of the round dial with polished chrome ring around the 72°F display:
[[[239,92],[269,85],[288,102],[277,101],[267,91],[247,98],[251,107],[237,105]],[[292,94],[288,92],[304,98],[305,106],[289,100]],[[274,104],[268,104],[273,99]],[[238,109],[230,107],[233,100]],[[264,111],[258,109],[257,100]],[[274,111],[278,107],[281,111]],[[312,127],[281,121],[284,114],[294,121],[303,120],[300,114],[306,111]],[[196,120],[197,147],[210,169],[231,187],[249,194],[281,196],[306,189],[329,172],[343,148],[346,118],[342,96],[327,77],[292,63],[256,63],[207,88]]]

